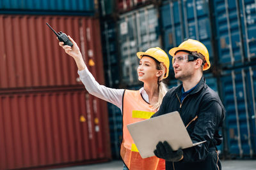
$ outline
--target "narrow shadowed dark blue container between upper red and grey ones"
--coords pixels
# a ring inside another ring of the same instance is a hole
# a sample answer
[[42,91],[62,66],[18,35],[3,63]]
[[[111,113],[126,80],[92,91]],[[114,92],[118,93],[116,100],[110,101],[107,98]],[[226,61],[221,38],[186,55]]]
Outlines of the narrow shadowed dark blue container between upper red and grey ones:
[[120,66],[118,59],[117,32],[114,20],[101,22],[102,27],[102,55],[104,62],[106,85],[118,87],[120,82]]

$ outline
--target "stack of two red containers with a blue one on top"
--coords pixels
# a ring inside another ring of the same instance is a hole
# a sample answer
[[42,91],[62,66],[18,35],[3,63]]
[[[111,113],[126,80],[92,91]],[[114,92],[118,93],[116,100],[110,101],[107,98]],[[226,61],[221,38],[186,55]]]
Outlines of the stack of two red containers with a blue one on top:
[[107,104],[86,92],[76,63],[45,24],[72,36],[104,83],[92,1],[19,2],[0,3],[0,169],[111,159]]

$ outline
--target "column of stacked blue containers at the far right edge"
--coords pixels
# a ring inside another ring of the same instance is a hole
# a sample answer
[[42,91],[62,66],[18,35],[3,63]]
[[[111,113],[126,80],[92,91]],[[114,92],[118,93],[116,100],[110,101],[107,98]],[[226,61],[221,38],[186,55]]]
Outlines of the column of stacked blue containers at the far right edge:
[[227,110],[225,148],[230,157],[255,157],[256,4],[215,0],[212,6],[220,94]]

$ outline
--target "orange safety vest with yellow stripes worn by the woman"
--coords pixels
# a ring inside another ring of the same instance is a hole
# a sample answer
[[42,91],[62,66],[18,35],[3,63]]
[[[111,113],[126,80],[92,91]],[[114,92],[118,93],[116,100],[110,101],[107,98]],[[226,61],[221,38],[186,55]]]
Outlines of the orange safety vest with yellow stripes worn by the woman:
[[141,97],[139,90],[125,90],[123,99],[123,141],[120,155],[130,170],[165,170],[165,160],[157,157],[141,158],[128,124],[150,118],[156,110]]

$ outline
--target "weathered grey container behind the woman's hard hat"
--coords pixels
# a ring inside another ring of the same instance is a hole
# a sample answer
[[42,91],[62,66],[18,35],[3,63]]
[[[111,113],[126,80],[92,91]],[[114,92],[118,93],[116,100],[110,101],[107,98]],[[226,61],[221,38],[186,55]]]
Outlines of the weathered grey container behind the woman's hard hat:
[[118,21],[118,45],[120,46],[121,83],[134,85],[138,83],[137,52],[160,46],[157,10],[146,6],[124,15]]

